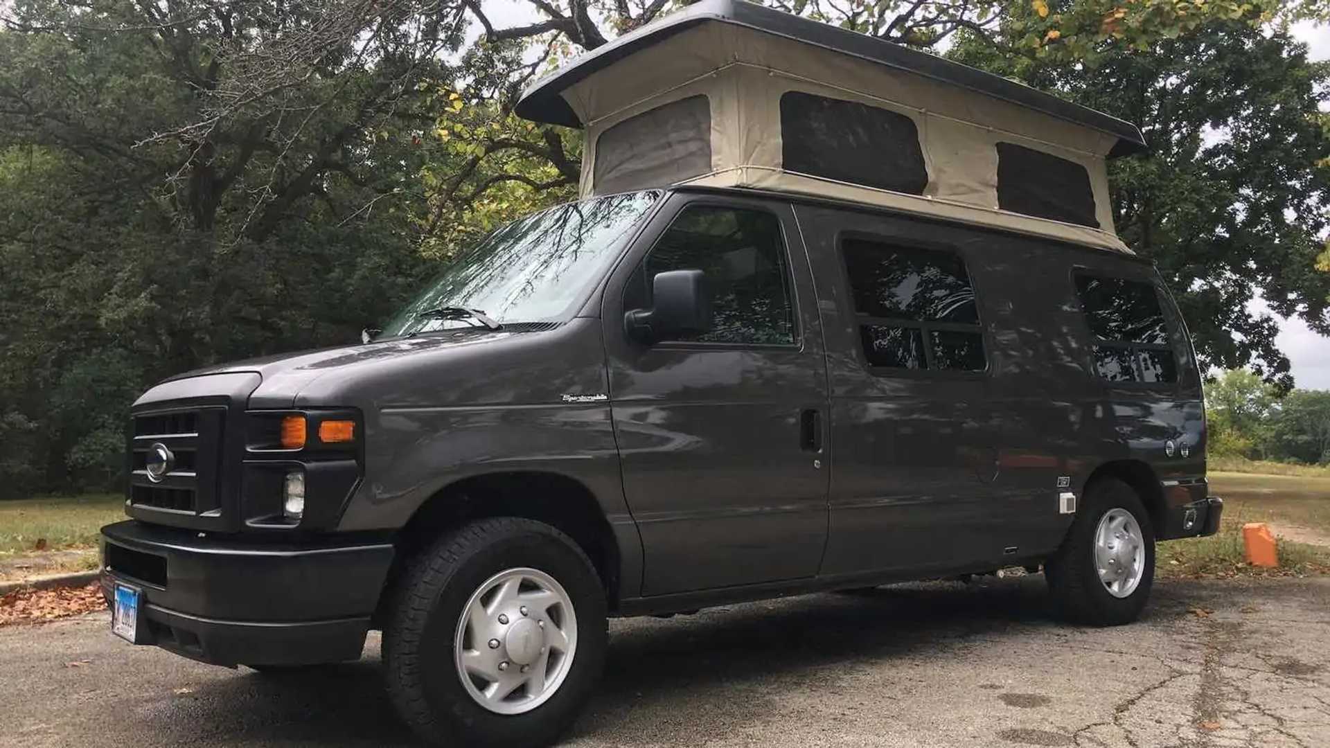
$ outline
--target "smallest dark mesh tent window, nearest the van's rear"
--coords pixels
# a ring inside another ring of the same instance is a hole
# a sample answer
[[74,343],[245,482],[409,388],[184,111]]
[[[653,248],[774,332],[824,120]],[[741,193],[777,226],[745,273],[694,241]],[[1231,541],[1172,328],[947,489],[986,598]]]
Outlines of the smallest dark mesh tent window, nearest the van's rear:
[[998,144],[998,208],[1099,228],[1085,166],[1011,142]]

